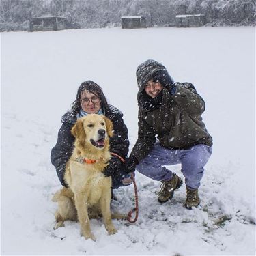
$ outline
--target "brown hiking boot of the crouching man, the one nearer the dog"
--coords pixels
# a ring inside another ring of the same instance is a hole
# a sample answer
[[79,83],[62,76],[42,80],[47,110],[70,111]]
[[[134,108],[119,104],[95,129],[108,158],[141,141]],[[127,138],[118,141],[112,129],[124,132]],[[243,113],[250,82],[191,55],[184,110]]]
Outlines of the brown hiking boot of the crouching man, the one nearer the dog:
[[176,173],[173,173],[173,177],[171,180],[167,180],[165,182],[162,182],[161,189],[158,192],[158,202],[165,203],[169,199],[171,200],[173,198],[173,193],[177,188],[180,188],[182,186],[182,179],[176,175]]

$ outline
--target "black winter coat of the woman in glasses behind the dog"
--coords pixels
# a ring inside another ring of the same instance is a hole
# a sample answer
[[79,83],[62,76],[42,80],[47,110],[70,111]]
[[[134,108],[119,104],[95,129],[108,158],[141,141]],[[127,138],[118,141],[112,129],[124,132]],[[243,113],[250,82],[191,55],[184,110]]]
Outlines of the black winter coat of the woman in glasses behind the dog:
[[[113,122],[114,136],[110,138],[110,150],[125,158],[129,150],[129,140],[128,130],[122,118],[123,113],[112,105],[109,105],[108,109],[104,109],[104,113]],[[76,115],[67,112],[61,117],[61,122],[57,143],[51,150],[51,162],[56,168],[59,181],[63,186],[67,186],[64,182],[64,173],[74,147],[74,136],[71,134],[71,129],[76,122]]]

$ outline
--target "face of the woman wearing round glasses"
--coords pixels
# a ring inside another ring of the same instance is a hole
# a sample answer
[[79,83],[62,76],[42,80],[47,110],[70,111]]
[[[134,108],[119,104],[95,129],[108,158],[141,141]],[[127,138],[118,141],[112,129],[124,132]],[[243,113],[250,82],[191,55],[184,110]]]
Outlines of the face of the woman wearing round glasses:
[[96,114],[100,110],[101,100],[96,95],[87,90],[81,92],[80,104],[83,111],[89,114]]

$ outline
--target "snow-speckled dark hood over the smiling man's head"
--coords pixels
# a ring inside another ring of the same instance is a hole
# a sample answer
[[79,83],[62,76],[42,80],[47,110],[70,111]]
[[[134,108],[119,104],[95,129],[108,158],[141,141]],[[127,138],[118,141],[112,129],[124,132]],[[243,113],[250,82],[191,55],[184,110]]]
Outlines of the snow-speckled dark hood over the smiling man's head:
[[165,66],[163,66],[158,61],[154,61],[154,59],[147,59],[147,61],[141,63],[136,70],[137,83],[139,87],[139,94],[145,88],[145,85],[150,79],[153,78],[153,74],[155,74],[158,70],[167,70]]

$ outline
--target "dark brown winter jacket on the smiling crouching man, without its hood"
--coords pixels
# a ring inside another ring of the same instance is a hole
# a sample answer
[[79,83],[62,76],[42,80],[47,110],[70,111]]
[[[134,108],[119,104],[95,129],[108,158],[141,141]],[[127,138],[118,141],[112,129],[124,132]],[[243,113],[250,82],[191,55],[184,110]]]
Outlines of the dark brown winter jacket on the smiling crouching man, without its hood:
[[143,159],[157,139],[162,147],[186,149],[197,144],[212,146],[212,137],[201,114],[205,102],[190,83],[175,83],[175,94],[162,89],[160,106],[145,110],[139,104],[139,132],[131,155]]

